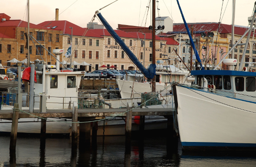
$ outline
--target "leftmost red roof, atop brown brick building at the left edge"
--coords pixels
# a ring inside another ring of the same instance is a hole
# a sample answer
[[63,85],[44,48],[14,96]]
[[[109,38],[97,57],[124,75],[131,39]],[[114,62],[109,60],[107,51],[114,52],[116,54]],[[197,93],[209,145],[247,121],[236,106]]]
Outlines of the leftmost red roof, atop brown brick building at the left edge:
[[[0,27],[10,27],[10,26],[14,26],[14,27],[28,27],[28,22],[25,22],[23,20],[7,20],[4,22],[0,22]],[[38,25],[32,24],[30,23],[30,28],[41,28]]]

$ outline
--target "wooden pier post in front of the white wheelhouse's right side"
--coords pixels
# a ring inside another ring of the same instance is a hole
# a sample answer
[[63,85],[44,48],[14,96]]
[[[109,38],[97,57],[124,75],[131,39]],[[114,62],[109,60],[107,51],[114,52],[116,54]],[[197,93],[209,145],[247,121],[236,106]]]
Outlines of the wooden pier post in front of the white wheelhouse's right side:
[[77,145],[77,121],[78,121],[78,104],[73,101],[72,110],[72,145]]

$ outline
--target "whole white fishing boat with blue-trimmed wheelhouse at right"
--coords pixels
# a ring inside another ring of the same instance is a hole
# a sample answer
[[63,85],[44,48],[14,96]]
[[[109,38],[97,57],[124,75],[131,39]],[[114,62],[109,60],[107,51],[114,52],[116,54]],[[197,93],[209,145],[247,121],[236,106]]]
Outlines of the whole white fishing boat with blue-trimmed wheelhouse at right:
[[[255,5],[253,11],[252,20]],[[245,48],[252,27],[243,35],[248,33]],[[191,71],[195,85],[173,86],[184,150],[256,150],[256,73],[243,67],[244,54],[239,71],[234,71],[236,59],[224,57],[229,70],[216,70],[220,62],[213,70]]]

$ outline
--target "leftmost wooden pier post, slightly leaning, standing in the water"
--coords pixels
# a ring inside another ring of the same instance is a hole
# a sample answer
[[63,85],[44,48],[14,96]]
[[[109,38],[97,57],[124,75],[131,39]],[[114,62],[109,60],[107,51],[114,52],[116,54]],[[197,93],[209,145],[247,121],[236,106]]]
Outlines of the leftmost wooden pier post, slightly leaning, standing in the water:
[[16,140],[18,131],[19,104],[15,103],[13,107],[13,122],[11,129],[10,150],[16,150]]

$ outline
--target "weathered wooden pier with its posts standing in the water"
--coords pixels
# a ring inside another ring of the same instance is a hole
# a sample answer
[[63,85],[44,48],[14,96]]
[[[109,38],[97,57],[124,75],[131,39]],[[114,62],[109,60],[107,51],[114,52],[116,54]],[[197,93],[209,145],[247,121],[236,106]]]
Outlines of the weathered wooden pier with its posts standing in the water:
[[[109,108],[109,109],[78,109],[77,104],[74,104],[72,110],[59,109],[59,110],[46,110],[46,113],[39,113],[39,110],[34,110],[33,113],[29,114],[29,110],[23,110],[25,112],[20,112],[17,109],[13,110],[1,110],[0,119],[13,120],[11,139],[10,139],[10,149],[16,147],[16,136],[18,127],[18,118],[69,118],[72,119],[72,144],[77,143],[77,124],[79,122],[79,146],[90,144],[90,132],[91,132],[91,122],[93,120],[101,120],[105,117],[124,117],[125,118],[125,144],[129,148],[131,144],[131,119],[132,116],[142,116],[140,120],[140,131],[143,134],[144,131],[144,117],[143,116],[164,116],[167,118],[168,125],[172,126],[173,123],[173,112],[171,108],[132,108],[131,103],[127,104],[127,108]],[[15,104],[14,108],[18,108],[18,104]],[[79,122],[78,122],[79,121]],[[78,123],[76,123],[78,122]],[[41,122],[41,138],[45,138],[46,135],[46,121],[42,119]],[[98,122],[92,124],[92,142],[95,142],[97,136]],[[171,128],[173,129],[173,128]],[[172,133],[173,130],[170,131]],[[83,142],[81,142],[83,141]]]

